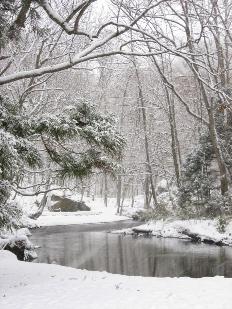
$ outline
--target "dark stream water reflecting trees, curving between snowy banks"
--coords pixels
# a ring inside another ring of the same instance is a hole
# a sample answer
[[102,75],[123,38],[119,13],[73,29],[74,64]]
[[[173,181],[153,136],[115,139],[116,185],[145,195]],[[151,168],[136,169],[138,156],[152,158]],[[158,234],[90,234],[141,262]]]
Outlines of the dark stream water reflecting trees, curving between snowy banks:
[[132,220],[32,230],[33,262],[146,277],[232,277],[232,248],[174,238],[111,234]]

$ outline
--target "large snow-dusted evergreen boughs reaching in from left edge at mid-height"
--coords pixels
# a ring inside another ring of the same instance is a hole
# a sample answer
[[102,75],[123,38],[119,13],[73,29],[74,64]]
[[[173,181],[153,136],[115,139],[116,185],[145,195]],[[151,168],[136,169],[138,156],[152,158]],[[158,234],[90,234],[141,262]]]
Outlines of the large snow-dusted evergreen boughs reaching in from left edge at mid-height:
[[[51,162],[57,166],[57,175],[82,179],[93,169],[115,175],[119,165],[113,160],[122,158],[125,139],[114,127],[113,114],[97,111],[97,104],[74,100],[56,114],[28,117],[9,96],[0,96],[0,230],[17,226],[19,210],[8,201],[12,185],[26,175],[26,169],[42,167],[37,150],[39,137]],[[84,141],[87,148],[76,153],[73,147],[58,152],[51,141],[61,145]]]

